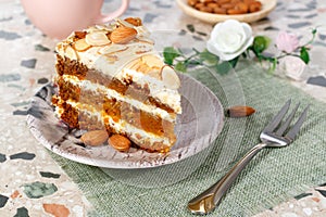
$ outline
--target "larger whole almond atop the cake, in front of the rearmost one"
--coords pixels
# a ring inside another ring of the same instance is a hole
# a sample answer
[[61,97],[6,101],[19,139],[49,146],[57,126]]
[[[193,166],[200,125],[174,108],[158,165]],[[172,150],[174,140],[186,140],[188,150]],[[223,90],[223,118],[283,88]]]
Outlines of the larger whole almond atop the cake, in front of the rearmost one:
[[137,30],[135,28],[121,26],[114,29],[110,35],[110,40],[113,43],[127,43],[137,36]]

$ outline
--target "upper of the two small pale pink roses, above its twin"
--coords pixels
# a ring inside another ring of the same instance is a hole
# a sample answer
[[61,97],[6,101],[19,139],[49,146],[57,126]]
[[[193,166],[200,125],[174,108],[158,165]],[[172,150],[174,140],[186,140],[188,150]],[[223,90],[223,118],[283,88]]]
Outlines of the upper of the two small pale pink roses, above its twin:
[[293,34],[279,31],[278,36],[276,37],[276,47],[278,50],[291,53],[299,47],[299,39]]

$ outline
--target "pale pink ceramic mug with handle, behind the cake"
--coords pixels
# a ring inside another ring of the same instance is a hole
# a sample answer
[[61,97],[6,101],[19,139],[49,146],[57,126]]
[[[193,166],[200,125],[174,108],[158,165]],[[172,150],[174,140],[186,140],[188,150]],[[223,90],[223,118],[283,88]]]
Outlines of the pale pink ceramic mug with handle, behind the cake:
[[51,38],[63,39],[74,30],[106,23],[122,15],[129,0],[108,15],[101,14],[103,0],[21,0],[30,22]]

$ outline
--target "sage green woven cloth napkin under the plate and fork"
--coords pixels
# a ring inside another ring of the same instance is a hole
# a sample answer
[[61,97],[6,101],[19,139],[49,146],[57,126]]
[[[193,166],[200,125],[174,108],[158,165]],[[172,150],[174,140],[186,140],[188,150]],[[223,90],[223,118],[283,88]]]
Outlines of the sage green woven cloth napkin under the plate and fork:
[[[301,102],[300,111],[311,105],[299,137],[287,148],[265,149],[259,153],[211,215],[251,216],[309,187],[326,182],[324,103],[292,87],[286,79],[272,76],[259,64],[241,63],[236,73],[223,76],[204,68],[189,74],[206,85],[224,107],[246,103],[256,112],[244,118],[226,117],[224,129],[204,163],[186,179],[171,186],[129,186],[111,178],[101,168],[52,154],[92,203],[95,209],[89,216],[192,216],[187,210],[187,202],[216,182],[259,142],[261,130],[288,99],[292,99],[292,107]],[[187,161],[193,164],[191,157]],[[176,166],[175,169],[176,174],[181,174],[185,168]]]

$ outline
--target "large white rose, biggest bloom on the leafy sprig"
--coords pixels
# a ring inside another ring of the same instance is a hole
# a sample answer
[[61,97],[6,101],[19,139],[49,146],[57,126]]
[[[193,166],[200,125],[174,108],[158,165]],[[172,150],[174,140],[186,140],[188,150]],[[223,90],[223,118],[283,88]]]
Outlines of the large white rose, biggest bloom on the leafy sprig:
[[252,42],[252,29],[247,23],[227,20],[214,26],[206,48],[222,61],[229,61],[246,51]]

